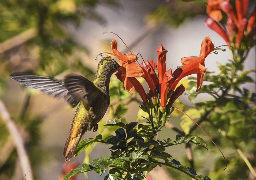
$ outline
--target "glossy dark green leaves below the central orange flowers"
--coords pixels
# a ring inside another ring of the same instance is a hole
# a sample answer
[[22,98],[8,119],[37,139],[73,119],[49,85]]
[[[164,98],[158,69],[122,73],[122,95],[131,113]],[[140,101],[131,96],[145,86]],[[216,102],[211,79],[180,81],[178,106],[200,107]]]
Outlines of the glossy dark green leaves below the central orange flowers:
[[157,165],[167,166],[184,172],[195,179],[208,179],[202,175],[197,175],[196,171],[186,165],[181,165],[179,161],[165,152],[169,146],[183,143],[193,143],[207,149],[202,138],[192,135],[177,135],[175,139],[153,140],[157,134],[155,129],[147,124],[138,124],[130,122],[125,124],[121,120],[109,120],[105,126],[119,127],[115,135],[103,138],[101,134],[95,138],[84,139],[79,142],[75,156],[78,156],[84,149],[95,142],[111,145],[110,156],[93,159],[88,164],[82,164],[80,167],[71,170],[63,180],[78,174],[89,171],[95,171],[102,175],[107,169],[108,174],[104,179],[144,179],[143,172],[151,171]]

